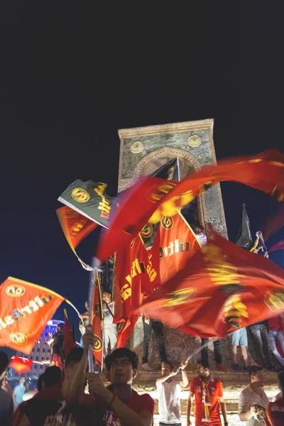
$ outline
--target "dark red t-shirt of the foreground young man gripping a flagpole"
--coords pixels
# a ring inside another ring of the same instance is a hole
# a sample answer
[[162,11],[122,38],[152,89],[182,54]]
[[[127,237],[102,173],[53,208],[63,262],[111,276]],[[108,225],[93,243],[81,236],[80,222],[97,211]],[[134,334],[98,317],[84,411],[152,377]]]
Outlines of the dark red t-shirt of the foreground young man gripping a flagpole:
[[[152,415],[154,414],[155,403],[148,393],[138,395],[136,391],[132,391],[131,398],[127,401],[122,401],[127,407],[139,414],[142,410],[146,410]],[[109,407],[105,406],[102,415],[102,426],[123,426],[123,423],[119,420],[116,413]]]

